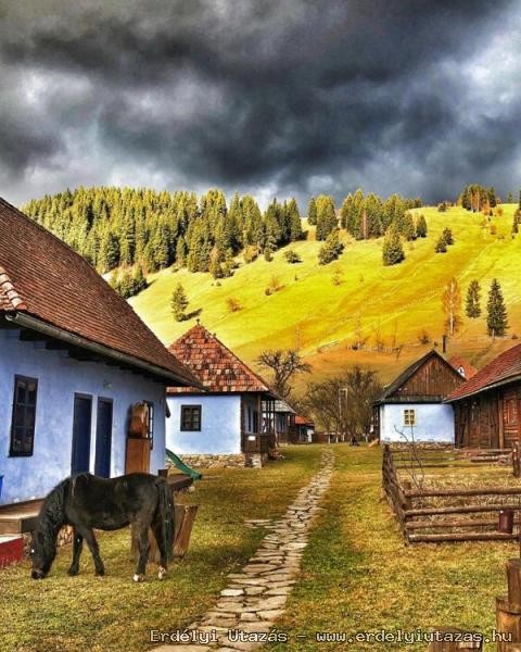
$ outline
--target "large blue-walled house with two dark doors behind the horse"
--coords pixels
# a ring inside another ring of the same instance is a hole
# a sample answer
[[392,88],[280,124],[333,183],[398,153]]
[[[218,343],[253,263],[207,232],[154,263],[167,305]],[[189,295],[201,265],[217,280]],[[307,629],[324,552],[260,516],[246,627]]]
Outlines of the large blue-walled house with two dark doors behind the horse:
[[[165,465],[166,386],[196,384],[81,256],[0,200],[0,503]],[[147,405],[130,441],[135,403]]]

